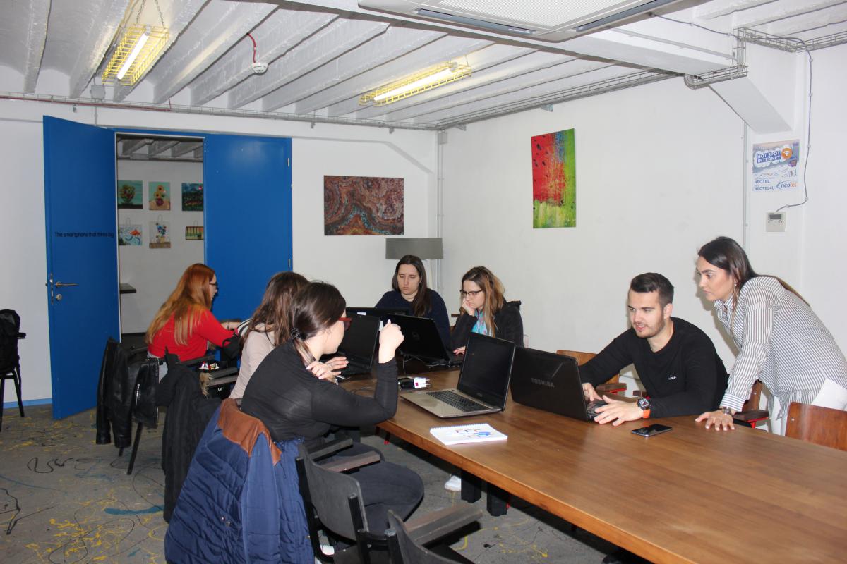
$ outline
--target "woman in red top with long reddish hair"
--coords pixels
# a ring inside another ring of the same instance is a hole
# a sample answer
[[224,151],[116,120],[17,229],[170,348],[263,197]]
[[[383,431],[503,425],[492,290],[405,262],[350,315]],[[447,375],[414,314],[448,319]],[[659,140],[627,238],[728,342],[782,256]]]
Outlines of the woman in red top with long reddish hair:
[[219,323],[209,310],[216,293],[218,278],[211,268],[197,263],[185,269],[147,328],[147,353],[159,359],[166,352],[180,360],[197,359],[206,354],[209,342],[220,347],[234,337],[238,324]]

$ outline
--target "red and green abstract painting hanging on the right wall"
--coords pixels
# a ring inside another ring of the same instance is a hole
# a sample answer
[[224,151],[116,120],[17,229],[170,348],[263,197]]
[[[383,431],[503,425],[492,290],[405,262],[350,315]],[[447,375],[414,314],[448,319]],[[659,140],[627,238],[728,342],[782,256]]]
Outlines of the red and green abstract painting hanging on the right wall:
[[576,227],[573,129],[532,138],[532,227]]

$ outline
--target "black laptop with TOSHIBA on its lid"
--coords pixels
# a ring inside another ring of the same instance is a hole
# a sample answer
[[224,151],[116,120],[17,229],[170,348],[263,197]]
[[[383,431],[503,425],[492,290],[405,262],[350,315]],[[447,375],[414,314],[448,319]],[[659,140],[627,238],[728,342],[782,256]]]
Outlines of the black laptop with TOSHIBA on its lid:
[[512,399],[530,408],[590,421],[606,402],[586,402],[573,357],[518,348],[512,361]]

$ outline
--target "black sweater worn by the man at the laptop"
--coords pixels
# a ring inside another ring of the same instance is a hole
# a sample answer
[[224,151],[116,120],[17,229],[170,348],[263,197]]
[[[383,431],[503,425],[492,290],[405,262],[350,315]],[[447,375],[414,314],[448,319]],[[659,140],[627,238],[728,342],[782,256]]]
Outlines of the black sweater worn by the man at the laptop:
[[673,335],[654,353],[630,328],[579,367],[584,382],[597,386],[629,364],[650,396],[650,417],[699,415],[716,409],[727,388],[727,370],[711,339],[686,320],[672,317]]

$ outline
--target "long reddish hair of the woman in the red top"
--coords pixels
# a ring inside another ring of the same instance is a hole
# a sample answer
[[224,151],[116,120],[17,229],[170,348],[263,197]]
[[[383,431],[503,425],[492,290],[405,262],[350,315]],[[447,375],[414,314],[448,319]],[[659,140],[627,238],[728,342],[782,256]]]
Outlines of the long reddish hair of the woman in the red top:
[[174,291],[159,308],[153,317],[150,326],[147,327],[145,342],[152,343],[153,336],[174,317],[174,341],[180,345],[188,342],[188,337],[204,309],[212,308],[212,296],[206,288],[214,278],[214,271],[208,266],[198,262],[185,269],[176,283]]

